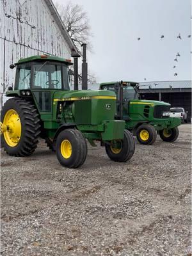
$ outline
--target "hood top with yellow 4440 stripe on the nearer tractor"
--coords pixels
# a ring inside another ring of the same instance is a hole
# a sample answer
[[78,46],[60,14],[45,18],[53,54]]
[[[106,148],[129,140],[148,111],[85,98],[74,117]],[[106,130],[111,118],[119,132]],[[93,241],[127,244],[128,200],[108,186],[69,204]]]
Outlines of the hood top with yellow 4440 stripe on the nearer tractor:
[[81,90],[81,91],[60,91],[54,93],[54,101],[68,100],[90,100],[90,99],[113,99],[116,100],[116,95],[111,91],[101,90]]

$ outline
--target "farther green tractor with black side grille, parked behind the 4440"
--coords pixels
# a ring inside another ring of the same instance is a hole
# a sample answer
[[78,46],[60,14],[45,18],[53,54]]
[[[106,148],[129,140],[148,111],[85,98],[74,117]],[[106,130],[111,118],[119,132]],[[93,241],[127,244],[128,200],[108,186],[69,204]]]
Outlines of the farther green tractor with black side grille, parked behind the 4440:
[[125,120],[125,129],[141,144],[152,145],[157,133],[163,141],[173,142],[179,136],[179,118],[170,117],[170,104],[156,100],[139,100],[138,83],[101,83],[100,90],[116,93],[116,120]]

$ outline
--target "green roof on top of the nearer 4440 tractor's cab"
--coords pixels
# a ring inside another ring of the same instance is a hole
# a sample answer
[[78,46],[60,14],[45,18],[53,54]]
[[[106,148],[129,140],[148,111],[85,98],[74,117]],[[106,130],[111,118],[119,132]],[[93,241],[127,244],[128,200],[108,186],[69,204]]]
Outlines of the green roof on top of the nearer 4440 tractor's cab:
[[31,61],[59,61],[59,62],[63,62],[67,65],[72,65],[73,63],[71,62],[71,60],[67,60],[64,58],[60,58],[60,57],[56,57],[56,56],[49,56],[49,55],[36,55],[36,56],[31,56],[28,58],[22,58],[20,59],[17,64],[22,64],[22,63],[26,63],[26,62],[31,62]]

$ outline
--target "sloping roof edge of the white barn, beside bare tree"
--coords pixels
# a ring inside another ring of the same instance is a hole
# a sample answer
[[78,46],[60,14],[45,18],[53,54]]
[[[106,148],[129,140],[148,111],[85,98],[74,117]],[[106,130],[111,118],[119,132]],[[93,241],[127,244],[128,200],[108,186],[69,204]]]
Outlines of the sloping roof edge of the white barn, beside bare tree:
[[52,3],[52,0],[44,0],[44,1],[45,1],[45,4],[47,4],[47,7],[49,8],[49,11],[51,12],[52,17],[54,17],[56,24],[60,28],[61,34],[64,36],[64,38],[68,44],[68,47],[70,47],[72,56],[76,56],[76,55],[79,56],[79,54],[77,52],[76,45],[74,45],[74,42],[72,42],[72,39],[68,35],[67,29],[65,28],[58,11],[56,10],[54,4]]

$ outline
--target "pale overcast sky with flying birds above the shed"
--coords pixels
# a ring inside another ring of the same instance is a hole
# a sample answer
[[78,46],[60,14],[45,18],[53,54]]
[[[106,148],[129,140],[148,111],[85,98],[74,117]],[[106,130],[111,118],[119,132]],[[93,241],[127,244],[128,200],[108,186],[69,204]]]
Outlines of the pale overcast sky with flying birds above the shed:
[[191,80],[191,0],[70,1],[90,19],[94,53],[88,54],[88,68],[97,83]]

